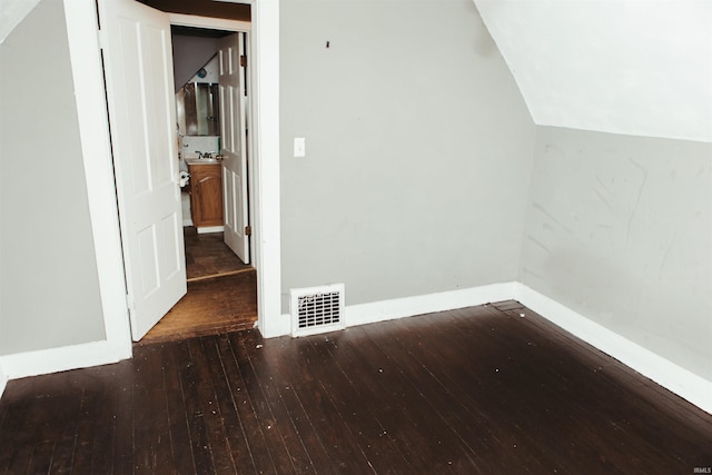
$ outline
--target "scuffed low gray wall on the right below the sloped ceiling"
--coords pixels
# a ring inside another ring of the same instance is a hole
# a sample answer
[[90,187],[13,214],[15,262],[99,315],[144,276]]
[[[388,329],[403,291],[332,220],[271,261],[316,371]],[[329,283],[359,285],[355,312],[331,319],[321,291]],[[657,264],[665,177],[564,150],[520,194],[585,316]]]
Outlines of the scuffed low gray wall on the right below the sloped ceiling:
[[541,127],[521,281],[712,380],[712,144]]

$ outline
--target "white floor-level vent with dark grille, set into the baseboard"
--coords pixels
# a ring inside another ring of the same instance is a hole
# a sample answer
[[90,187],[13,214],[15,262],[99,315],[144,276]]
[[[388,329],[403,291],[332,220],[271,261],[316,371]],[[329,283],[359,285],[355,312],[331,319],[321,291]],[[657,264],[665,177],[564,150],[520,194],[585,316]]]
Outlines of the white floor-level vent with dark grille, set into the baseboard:
[[291,289],[291,336],[343,329],[344,284]]

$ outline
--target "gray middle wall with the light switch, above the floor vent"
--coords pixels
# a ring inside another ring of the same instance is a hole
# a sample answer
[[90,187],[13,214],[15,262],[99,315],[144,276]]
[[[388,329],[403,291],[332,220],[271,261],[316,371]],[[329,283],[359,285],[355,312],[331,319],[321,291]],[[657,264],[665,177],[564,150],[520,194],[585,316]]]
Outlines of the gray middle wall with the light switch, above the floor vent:
[[283,297],[515,280],[535,128],[472,0],[287,1],[280,21]]

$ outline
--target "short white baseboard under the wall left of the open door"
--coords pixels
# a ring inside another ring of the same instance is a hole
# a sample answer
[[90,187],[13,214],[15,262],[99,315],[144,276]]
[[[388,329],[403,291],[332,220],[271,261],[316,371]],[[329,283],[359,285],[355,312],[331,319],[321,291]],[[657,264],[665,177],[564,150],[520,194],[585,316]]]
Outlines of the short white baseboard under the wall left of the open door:
[[10,379],[108,365],[126,359],[123,345],[91,342],[60,348],[39,349],[2,356],[2,367]]

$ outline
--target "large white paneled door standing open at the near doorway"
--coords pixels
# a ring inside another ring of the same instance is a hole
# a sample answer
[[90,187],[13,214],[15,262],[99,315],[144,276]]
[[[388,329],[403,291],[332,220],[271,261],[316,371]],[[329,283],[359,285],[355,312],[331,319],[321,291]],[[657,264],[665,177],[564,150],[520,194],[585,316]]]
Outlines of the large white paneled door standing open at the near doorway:
[[99,0],[131,334],[186,294],[170,23],[134,0]]

